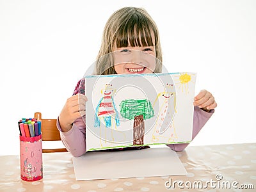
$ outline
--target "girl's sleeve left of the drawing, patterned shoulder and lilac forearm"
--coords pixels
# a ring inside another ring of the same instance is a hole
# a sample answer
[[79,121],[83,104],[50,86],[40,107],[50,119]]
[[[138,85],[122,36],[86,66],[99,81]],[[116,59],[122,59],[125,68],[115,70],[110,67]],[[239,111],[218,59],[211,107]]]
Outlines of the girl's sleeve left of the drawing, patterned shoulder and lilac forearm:
[[[84,94],[84,79],[77,83],[73,95],[77,93]],[[86,152],[85,115],[77,118],[68,132],[62,132],[59,118],[57,119],[57,127],[60,131],[61,141],[70,154],[74,157],[82,156]]]

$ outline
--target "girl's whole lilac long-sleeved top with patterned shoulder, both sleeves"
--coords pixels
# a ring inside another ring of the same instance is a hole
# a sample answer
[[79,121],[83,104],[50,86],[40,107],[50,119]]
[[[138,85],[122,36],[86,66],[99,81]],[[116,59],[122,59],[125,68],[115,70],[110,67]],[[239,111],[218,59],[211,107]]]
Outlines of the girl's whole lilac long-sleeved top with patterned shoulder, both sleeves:
[[[74,94],[77,93],[84,94],[84,81],[79,81],[77,86],[74,90]],[[194,108],[194,116],[193,116],[193,133],[192,133],[192,140],[198,134],[198,132],[204,127],[205,123],[211,118],[212,114],[214,113],[214,109],[209,112],[206,112],[198,106]],[[85,117],[83,117],[85,118]],[[72,154],[74,157],[82,156],[86,152],[86,140],[85,140],[85,120],[83,118],[77,118],[70,131],[62,132],[60,127],[59,119],[57,120],[57,127],[60,131],[61,141],[67,148],[67,150]],[[189,143],[180,143],[180,144],[169,144],[168,147],[172,148],[175,151],[184,150],[189,145]],[[147,148],[147,147],[134,147],[136,149],[140,148]]]

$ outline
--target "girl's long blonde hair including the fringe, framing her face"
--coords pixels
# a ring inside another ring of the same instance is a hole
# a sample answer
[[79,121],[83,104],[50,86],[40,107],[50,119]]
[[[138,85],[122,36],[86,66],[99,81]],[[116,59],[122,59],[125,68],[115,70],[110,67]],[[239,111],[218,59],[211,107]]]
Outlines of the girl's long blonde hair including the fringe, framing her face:
[[156,23],[143,8],[125,7],[113,13],[106,23],[93,74],[116,74],[111,52],[115,47],[127,47],[129,43],[132,47],[155,46],[154,72],[161,73],[162,51]]

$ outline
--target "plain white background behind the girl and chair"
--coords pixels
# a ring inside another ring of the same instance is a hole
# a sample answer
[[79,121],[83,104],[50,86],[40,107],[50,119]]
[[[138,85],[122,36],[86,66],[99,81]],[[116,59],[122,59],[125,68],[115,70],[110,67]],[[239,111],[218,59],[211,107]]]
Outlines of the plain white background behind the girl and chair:
[[20,118],[57,118],[123,6],[150,13],[169,72],[196,72],[218,102],[190,145],[255,142],[256,1],[1,0],[0,155],[19,154]]

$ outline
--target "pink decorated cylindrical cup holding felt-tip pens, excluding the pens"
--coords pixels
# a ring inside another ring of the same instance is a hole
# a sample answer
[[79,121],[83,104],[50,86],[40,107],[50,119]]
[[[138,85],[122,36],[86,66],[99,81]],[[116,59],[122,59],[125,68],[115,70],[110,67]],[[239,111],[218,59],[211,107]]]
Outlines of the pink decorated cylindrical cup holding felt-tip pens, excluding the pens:
[[42,134],[29,138],[20,136],[20,178],[26,181],[43,178]]

